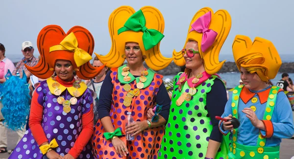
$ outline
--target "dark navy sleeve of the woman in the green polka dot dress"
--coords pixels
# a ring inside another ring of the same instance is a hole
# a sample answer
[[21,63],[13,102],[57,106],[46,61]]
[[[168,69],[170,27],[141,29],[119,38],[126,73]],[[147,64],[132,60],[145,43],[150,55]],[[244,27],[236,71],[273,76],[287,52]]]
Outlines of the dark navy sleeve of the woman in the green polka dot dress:
[[221,142],[222,133],[219,130],[219,120],[215,116],[221,116],[227,102],[226,90],[221,79],[215,79],[211,91],[206,96],[206,107],[212,123],[210,139]]

